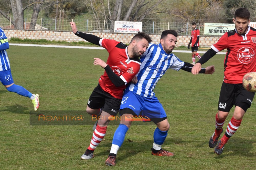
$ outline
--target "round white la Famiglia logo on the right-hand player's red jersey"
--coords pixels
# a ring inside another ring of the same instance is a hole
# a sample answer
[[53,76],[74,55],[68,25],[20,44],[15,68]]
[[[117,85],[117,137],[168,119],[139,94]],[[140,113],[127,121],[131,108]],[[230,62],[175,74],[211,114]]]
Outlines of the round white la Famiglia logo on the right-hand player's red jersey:
[[250,47],[242,47],[238,50],[237,58],[240,63],[249,64],[253,61],[254,51]]

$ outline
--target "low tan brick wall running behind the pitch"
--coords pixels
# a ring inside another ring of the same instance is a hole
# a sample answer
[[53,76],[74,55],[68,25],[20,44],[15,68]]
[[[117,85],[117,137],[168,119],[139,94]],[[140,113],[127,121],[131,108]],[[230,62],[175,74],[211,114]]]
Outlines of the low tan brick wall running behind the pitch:
[[[77,37],[73,32],[67,31],[34,31],[34,30],[7,30],[5,29],[5,34],[8,39],[12,37],[18,37],[20,39],[46,39],[49,41],[67,41],[67,42],[78,42],[85,41],[80,37]],[[90,34],[97,35],[100,38],[113,39],[116,41],[129,44],[131,38],[134,34],[121,34],[121,33],[97,33],[90,32]],[[160,43],[161,35],[150,34],[154,43]],[[210,47],[212,44],[216,43],[219,37],[203,37],[200,36],[200,47]],[[176,46],[187,46],[190,41],[190,36],[178,36]]]

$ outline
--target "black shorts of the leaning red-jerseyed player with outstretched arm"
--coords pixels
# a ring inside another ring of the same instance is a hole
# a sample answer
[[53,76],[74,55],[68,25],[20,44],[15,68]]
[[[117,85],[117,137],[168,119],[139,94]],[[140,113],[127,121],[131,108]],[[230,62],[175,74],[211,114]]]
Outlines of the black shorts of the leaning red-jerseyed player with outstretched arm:
[[111,94],[102,90],[100,84],[98,84],[98,86],[92,91],[87,105],[91,109],[101,108],[104,112],[107,112],[112,116],[116,116],[119,112],[121,101],[122,99],[114,98]]

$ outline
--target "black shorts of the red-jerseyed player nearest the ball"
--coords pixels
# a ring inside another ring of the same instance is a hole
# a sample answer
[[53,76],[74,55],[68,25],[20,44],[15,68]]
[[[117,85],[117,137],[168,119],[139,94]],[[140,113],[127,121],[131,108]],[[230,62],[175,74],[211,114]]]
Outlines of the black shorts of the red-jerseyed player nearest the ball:
[[239,102],[247,103],[249,108],[251,107],[254,94],[255,92],[245,90],[242,83],[230,84],[223,82],[220,89],[218,110],[229,112]]

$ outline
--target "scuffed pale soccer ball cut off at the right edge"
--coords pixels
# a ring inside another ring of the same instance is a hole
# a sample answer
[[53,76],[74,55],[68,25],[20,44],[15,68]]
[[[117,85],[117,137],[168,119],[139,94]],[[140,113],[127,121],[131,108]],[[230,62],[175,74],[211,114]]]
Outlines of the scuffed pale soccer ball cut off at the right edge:
[[256,72],[248,72],[243,76],[243,87],[247,91],[256,91]]

